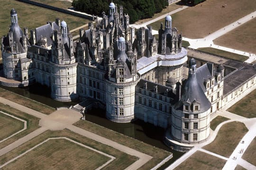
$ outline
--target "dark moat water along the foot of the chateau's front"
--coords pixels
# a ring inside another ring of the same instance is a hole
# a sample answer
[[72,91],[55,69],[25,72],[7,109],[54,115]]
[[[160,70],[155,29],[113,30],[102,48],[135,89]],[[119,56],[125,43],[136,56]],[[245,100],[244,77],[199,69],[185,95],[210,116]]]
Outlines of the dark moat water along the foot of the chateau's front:
[[[1,86],[1,88],[10,90],[12,92],[18,93],[20,95],[26,96],[27,98],[33,99],[38,102],[42,102],[51,107],[63,107],[74,105],[77,102],[57,102],[50,98],[50,89],[46,86],[36,84],[31,85],[29,87],[5,87]],[[163,143],[163,137],[165,134],[165,129],[161,127],[155,127],[150,123],[145,123],[142,120],[136,120],[132,123],[115,123],[105,118],[105,110],[101,109],[92,109],[89,110],[85,115],[86,120],[101,125],[103,127],[107,127],[119,133],[122,133],[126,136],[133,137],[137,140],[143,141],[147,144],[151,144],[153,146],[159,147],[166,151],[173,153],[173,158],[165,163],[160,169],[166,168],[176,159],[181,157],[183,153],[174,151],[167,147]]]

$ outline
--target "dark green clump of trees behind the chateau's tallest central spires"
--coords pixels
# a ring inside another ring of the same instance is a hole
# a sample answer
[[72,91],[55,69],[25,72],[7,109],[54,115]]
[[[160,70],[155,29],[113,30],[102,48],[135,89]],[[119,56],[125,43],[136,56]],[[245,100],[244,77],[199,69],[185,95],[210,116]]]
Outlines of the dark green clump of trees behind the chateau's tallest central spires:
[[[109,13],[110,2],[111,0],[73,0],[72,6],[76,10],[101,16],[103,11]],[[118,5],[118,9],[120,5],[123,6],[124,13],[130,16],[130,23],[153,17],[168,6],[167,0],[113,0],[113,3]]]

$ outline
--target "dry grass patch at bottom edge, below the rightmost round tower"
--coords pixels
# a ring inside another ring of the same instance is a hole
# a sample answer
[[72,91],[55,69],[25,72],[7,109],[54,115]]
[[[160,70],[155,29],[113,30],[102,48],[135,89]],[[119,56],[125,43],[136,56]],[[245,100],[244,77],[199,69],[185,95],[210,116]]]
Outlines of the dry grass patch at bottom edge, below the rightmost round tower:
[[197,151],[174,170],[221,170],[225,163],[223,159]]

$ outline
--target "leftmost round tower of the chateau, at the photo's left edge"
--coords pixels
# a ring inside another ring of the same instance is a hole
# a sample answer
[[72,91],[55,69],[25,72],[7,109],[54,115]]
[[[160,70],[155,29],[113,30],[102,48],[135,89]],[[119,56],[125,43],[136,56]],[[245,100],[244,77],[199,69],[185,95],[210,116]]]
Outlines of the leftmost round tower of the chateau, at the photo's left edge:
[[27,45],[29,42],[18,26],[17,11],[10,11],[11,26],[7,36],[2,37],[2,60],[4,76],[28,85],[28,67],[31,59],[27,59]]

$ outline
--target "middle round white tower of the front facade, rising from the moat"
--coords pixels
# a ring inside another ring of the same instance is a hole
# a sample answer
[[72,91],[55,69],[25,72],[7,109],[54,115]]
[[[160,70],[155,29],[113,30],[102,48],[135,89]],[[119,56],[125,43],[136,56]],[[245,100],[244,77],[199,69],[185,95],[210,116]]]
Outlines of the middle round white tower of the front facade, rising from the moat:
[[120,123],[135,119],[135,86],[139,81],[139,76],[133,75],[133,69],[129,68],[136,67],[135,56],[130,56],[129,60],[125,49],[125,39],[120,37],[115,68],[106,80],[106,117]]

